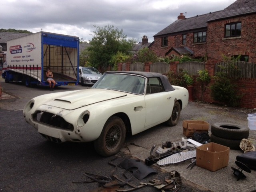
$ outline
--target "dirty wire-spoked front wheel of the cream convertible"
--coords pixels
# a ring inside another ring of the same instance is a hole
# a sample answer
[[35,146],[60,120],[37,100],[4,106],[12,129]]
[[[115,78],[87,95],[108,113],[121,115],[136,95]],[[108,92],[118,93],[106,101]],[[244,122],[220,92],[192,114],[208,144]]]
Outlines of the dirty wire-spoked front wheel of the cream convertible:
[[112,156],[120,151],[124,144],[126,127],[121,118],[113,116],[105,123],[100,137],[94,141],[96,152],[102,156]]

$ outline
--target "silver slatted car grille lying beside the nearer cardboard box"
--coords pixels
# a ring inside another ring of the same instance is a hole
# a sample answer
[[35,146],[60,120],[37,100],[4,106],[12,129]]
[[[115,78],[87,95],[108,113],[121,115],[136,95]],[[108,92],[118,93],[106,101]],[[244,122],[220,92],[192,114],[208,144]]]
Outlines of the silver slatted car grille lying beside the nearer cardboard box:
[[180,152],[180,153],[176,153],[173,154],[171,156],[168,156],[162,160],[159,160],[157,162],[157,164],[159,166],[165,166],[165,165],[169,165],[169,164],[175,164],[178,162],[182,162],[191,158],[195,158],[196,157],[196,151],[195,150],[191,150],[191,151],[187,151],[187,152]]

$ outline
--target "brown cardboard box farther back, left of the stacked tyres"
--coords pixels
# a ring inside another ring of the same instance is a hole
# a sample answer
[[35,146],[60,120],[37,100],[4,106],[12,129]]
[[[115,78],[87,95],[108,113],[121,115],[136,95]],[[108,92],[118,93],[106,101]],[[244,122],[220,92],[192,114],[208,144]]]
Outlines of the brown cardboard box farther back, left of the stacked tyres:
[[198,120],[184,120],[183,121],[183,134],[186,137],[192,137],[194,133],[208,132],[209,123]]

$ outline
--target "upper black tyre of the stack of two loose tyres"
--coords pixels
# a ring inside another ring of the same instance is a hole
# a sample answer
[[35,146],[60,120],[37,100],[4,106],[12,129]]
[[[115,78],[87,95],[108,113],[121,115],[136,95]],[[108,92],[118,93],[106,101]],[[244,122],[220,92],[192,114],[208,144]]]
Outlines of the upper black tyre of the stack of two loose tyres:
[[214,123],[211,126],[211,132],[217,137],[242,140],[249,136],[249,128],[232,123]]

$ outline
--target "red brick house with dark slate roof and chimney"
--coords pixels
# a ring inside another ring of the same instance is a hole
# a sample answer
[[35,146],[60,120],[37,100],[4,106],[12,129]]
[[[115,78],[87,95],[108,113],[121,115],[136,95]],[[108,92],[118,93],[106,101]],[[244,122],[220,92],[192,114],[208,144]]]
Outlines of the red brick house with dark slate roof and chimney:
[[256,63],[256,0],[237,0],[224,10],[178,20],[154,35],[150,46],[158,56],[241,56]]

